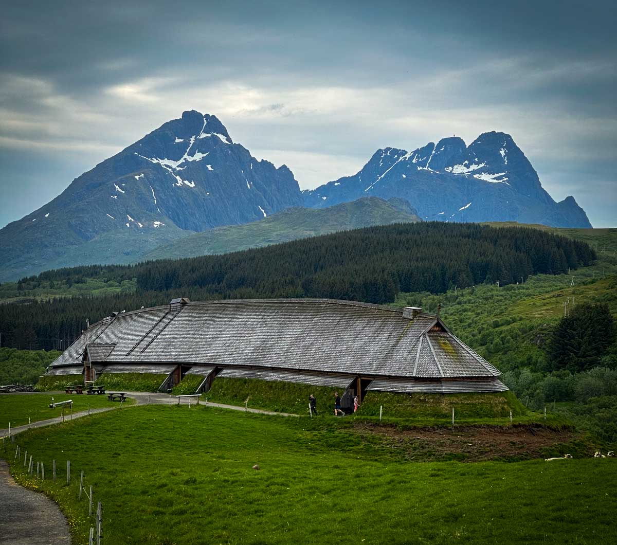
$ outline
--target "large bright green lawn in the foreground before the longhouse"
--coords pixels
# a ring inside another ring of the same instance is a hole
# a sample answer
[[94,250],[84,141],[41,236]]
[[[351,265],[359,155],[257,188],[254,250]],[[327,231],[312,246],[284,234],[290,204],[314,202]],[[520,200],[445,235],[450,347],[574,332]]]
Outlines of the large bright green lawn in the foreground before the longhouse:
[[411,463],[344,421],[137,407],[20,435],[33,460],[57,460],[56,485],[5,456],[80,544],[93,518],[63,484],[67,459],[102,502],[106,545],[617,541],[617,460]]

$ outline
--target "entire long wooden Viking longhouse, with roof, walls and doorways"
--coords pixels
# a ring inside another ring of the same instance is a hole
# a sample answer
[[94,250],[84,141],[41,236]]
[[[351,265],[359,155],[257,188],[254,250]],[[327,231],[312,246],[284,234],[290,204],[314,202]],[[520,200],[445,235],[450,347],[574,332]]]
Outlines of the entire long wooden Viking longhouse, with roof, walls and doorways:
[[51,364],[48,375],[163,373],[333,386],[347,394],[500,392],[501,373],[437,315],[332,299],[170,304],[104,318]]

